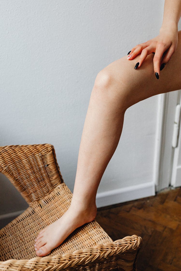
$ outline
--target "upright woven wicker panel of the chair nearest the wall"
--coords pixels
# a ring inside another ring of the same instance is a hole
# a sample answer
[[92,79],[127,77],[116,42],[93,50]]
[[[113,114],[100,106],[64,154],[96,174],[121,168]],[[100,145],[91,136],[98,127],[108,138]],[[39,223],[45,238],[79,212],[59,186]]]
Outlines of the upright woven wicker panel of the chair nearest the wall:
[[42,199],[63,182],[51,144],[0,147],[0,172],[28,204]]

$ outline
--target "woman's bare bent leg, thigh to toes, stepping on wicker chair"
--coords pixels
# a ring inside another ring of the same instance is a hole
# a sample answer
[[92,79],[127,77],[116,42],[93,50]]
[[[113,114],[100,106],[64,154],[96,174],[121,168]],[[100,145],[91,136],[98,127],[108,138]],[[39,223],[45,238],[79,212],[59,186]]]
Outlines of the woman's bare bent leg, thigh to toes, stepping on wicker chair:
[[96,192],[118,145],[124,114],[131,105],[159,93],[181,89],[181,31],[176,52],[155,78],[153,54],[135,70],[138,60],[122,57],[101,70],[95,80],[80,143],[74,193],[69,209],[36,238],[37,256],[58,247],[77,227],[96,217]]

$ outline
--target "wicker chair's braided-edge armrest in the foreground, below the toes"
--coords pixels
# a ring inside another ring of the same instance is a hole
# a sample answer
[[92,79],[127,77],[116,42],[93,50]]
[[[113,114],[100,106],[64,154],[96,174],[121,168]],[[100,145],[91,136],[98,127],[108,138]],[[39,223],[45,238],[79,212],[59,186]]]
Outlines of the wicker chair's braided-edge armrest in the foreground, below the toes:
[[[75,250],[73,253],[34,257],[29,260],[10,259],[0,262],[0,270],[88,270],[88,267],[96,267],[97,264],[102,265],[102,268],[106,263],[109,263],[110,266],[111,262],[114,268],[122,267],[124,270],[130,271],[133,269],[135,257],[141,245],[141,237],[137,235],[126,236],[114,242]],[[105,270],[110,270],[106,268]]]

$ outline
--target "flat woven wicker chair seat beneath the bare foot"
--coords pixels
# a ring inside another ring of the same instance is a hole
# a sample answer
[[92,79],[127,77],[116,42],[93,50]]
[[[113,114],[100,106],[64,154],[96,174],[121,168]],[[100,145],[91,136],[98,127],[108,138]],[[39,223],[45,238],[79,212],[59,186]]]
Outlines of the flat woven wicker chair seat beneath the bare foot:
[[[21,215],[2,228],[0,230],[0,260],[37,257],[34,250],[35,238],[40,230],[65,213],[70,205],[71,197],[71,191],[65,183],[61,183],[49,195],[30,204]],[[71,253],[108,242],[113,242],[113,240],[94,220],[77,228],[48,256]]]

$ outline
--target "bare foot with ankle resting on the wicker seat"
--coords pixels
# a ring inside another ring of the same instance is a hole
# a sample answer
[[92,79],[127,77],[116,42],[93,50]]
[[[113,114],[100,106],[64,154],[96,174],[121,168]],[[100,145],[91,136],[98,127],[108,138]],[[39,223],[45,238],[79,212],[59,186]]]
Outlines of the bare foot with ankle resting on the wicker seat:
[[93,221],[96,213],[96,205],[86,210],[71,205],[62,217],[40,231],[34,244],[36,255],[42,257],[50,254],[76,228]]

